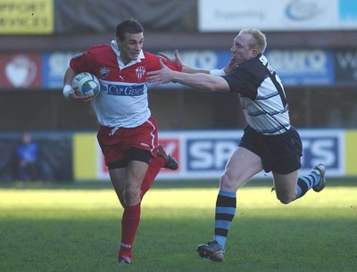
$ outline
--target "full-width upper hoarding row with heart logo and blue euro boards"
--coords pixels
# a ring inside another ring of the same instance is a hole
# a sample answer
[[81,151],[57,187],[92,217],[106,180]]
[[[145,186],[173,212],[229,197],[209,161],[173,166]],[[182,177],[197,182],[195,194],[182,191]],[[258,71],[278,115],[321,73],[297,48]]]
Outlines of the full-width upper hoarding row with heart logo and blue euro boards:
[[[62,89],[71,57],[79,52],[44,54],[0,54],[1,88]],[[165,54],[172,55],[167,51]],[[357,52],[353,50],[275,49],[267,50],[272,67],[286,86],[356,84]],[[227,50],[180,52],[184,63],[203,69],[221,69],[231,57]],[[170,84],[170,87],[182,87]]]

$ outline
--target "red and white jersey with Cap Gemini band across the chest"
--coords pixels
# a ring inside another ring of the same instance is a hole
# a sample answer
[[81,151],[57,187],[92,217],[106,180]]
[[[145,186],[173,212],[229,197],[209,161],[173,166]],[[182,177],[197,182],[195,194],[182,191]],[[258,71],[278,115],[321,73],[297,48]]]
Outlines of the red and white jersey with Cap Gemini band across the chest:
[[[99,78],[101,92],[92,100],[99,124],[111,128],[135,128],[151,116],[147,100],[146,72],[160,70],[159,57],[142,51],[137,61],[125,65],[116,43],[95,45],[71,59],[76,73],[90,72]],[[165,64],[171,70],[181,66]]]

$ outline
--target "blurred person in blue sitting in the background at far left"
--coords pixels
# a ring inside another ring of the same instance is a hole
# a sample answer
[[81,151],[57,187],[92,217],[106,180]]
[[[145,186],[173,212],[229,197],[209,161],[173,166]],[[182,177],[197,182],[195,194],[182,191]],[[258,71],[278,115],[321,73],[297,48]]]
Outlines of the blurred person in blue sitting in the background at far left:
[[18,179],[20,181],[34,181],[38,178],[38,144],[32,136],[25,132],[21,144],[16,147],[18,156]]

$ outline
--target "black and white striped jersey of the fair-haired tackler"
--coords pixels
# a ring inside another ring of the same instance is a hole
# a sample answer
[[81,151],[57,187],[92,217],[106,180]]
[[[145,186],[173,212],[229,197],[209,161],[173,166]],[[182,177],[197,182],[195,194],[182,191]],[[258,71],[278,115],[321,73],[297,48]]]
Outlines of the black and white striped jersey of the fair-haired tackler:
[[278,135],[290,128],[284,87],[264,55],[241,63],[223,78],[238,93],[245,119],[257,133]]

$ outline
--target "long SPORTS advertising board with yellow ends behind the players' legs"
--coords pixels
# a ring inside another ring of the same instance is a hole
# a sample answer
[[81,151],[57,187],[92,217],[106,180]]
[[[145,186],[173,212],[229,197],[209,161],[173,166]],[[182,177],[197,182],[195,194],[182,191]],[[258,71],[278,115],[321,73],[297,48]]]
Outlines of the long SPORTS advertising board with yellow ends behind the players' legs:
[[[353,141],[356,131],[343,129],[299,129],[303,140],[303,159],[300,174],[310,172],[323,163],[329,177],[355,176],[351,151],[357,150]],[[230,154],[236,149],[242,130],[163,131],[159,143],[179,161],[175,171],[162,169],[157,179],[218,179]],[[104,157],[96,144],[95,133],[76,134],[73,145],[76,180],[109,180]],[[350,139],[350,140],[348,140]],[[256,177],[270,177],[263,171]]]

